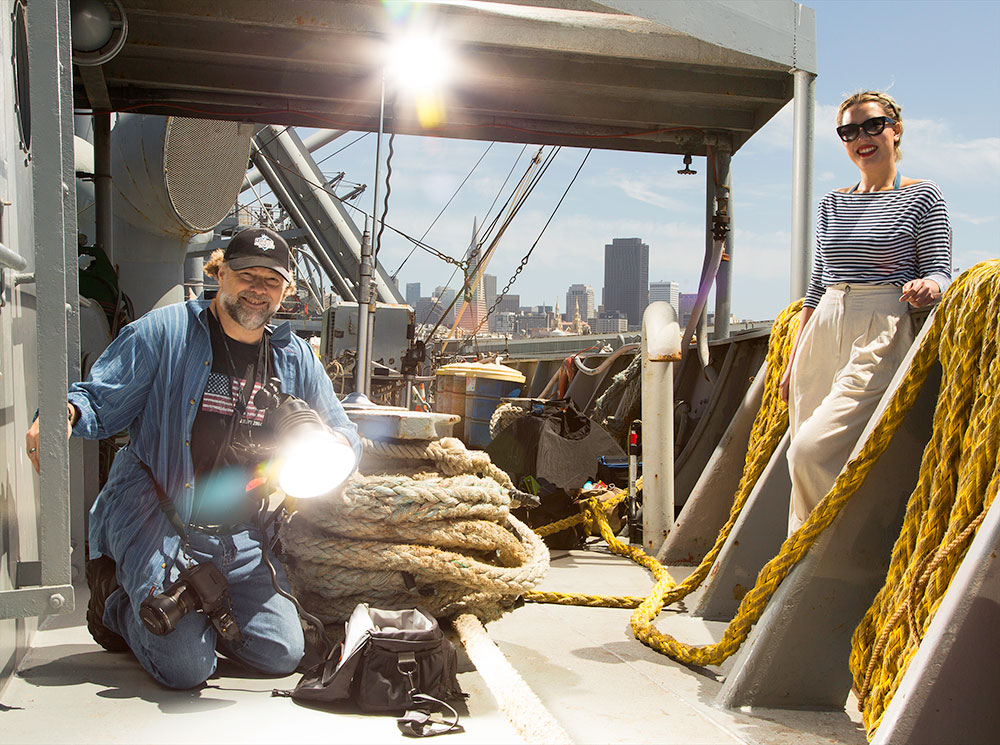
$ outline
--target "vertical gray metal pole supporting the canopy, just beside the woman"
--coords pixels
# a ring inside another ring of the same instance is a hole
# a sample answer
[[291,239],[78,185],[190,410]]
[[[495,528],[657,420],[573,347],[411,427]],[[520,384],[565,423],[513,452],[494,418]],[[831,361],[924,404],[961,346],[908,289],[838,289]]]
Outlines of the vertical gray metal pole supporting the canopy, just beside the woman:
[[792,131],[792,256],[789,295],[798,300],[809,286],[812,255],[813,110],[816,76],[794,70],[795,118]]

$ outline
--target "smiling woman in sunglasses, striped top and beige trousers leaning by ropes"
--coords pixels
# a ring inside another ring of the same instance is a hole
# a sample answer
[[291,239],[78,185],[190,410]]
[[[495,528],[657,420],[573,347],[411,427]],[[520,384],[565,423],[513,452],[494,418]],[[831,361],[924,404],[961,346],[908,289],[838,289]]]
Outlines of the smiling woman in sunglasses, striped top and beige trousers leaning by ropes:
[[840,105],[837,125],[860,180],[820,201],[812,277],[781,381],[792,438],[789,532],[833,486],[909,349],[910,307],[937,301],[951,282],[944,198],[896,167],[899,105],[857,93]]

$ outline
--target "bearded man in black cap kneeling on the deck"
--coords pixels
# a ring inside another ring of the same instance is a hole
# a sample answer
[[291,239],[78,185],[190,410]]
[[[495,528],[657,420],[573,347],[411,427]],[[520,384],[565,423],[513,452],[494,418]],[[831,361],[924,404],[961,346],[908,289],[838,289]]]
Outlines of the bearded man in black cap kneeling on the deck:
[[[88,380],[70,387],[67,404],[71,435],[129,433],[90,513],[87,626],[103,647],[131,650],[170,688],[204,683],[216,650],[274,675],[291,673],[303,655],[298,615],[274,590],[247,495],[269,435],[254,405],[262,384],[279,378],[356,456],[361,451],[309,345],[287,323],[266,325],[294,291],[284,239],[266,228],[243,230],[205,272],[219,281],[211,303],[156,309],[126,326]],[[38,469],[37,420],[26,440]],[[287,587],[277,562],[276,569]],[[152,633],[149,609],[146,623],[140,617],[143,601],[156,602],[179,576],[202,594],[228,585],[231,612],[222,598],[218,612],[175,616],[173,630]]]

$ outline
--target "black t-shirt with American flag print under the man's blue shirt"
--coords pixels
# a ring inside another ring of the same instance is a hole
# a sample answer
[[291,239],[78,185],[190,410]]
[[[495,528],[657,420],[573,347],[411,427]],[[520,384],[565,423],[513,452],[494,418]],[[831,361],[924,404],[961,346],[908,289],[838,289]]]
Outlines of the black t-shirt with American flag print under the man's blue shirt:
[[[268,433],[262,426],[264,412],[253,402],[267,379],[267,370],[259,368],[267,365],[261,365],[263,341],[258,344],[236,341],[225,334],[211,310],[207,317],[212,339],[212,371],[191,428],[191,458],[197,519],[224,522],[225,513],[240,501],[254,468],[263,460],[248,452],[248,446],[268,444]],[[229,441],[237,413],[239,420]]]

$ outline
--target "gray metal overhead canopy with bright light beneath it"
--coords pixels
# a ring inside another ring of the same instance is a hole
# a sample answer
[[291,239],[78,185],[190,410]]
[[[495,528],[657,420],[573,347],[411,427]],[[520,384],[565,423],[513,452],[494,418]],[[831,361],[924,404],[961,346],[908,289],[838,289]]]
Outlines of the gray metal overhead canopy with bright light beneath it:
[[456,74],[437,126],[400,98],[389,131],[698,155],[737,150],[815,71],[791,0],[122,3],[127,41],[78,76],[79,108],[374,131],[387,41],[418,24]]

